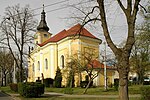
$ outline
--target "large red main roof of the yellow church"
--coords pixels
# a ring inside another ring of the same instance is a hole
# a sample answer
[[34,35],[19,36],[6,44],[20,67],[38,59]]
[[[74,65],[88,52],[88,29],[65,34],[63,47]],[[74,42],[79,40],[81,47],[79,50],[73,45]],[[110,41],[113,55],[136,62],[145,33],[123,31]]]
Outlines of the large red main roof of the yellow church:
[[82,27],[82,25],[77,24],[77,25],[71,27],[68,30],[65,30],[65,29],[62,30],[61,32],[59,32],[58,34],[54,35],[50,39],[48,39],[45,42],[39,44],[39,46],[44,46],[45,44],[50,43],[50,42],[58,42],[58,41],[66,38],[66,37],[76,36],[76,35],[98,39],[97,37],[92,35],[88,30],[86,30],[84,27]]

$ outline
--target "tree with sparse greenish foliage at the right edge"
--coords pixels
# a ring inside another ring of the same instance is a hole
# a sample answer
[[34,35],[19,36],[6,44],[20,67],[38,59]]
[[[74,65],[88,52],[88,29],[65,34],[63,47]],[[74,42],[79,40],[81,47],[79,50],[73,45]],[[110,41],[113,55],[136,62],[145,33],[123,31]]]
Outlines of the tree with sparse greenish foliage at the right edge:
[[144,10],[147,13],[141,10],[144,21],[137,26],[137,35],[130,58],[131,69],[138,74],[138,81],[141,84],[146,72],[150,70],[150,6],[146,6]]

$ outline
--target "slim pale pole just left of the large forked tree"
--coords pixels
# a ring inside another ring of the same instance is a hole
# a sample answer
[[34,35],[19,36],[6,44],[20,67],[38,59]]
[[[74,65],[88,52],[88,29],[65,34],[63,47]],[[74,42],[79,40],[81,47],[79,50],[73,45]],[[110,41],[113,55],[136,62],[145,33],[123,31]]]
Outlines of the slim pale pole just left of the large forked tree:
[[104,89],[107,91],[106,42],[104,42]]

